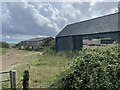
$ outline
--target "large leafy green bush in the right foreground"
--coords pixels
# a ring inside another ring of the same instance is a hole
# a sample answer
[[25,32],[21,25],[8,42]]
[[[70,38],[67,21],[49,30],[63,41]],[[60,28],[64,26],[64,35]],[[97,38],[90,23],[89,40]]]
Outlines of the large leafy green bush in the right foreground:
[[69,90],[111,90],[120,88],[118,46],[83,49],[52,85]]

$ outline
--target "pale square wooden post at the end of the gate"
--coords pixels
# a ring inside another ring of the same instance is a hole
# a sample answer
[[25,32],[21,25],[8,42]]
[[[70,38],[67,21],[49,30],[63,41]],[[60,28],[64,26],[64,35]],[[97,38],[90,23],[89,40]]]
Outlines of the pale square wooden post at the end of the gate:
[[16,90],[16,70],[10,71],[11,90]]

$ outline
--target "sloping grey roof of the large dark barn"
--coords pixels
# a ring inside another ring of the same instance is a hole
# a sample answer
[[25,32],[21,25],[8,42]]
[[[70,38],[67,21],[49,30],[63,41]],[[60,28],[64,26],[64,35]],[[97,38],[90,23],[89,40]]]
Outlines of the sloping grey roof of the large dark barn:
[[118,13],[69,24],[56,37],[114,31],[118,31]]

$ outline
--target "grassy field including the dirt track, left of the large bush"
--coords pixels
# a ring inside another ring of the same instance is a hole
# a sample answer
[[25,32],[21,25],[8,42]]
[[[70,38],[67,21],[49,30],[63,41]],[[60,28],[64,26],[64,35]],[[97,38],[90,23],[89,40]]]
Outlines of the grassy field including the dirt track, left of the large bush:
[[[22,86],[20,81],[25,69],[30,72],[31,88],[47,88],[70,62],[72,59],[65,56],[17,49],[9,49],[2,55],[3,71],[17,71],[17,88]],[[3,87],[8,88],[8,83]]]

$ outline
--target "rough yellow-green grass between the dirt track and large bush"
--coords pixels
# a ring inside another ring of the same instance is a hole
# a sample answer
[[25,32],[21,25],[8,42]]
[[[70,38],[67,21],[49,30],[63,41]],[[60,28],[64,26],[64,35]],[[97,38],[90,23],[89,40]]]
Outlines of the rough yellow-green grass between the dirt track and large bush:
[[[54,56],[52,54],[34,55],[27,57],[17,68],[18,79],[23,75],[23,71],[30,72],[31,88],[47,88],[55,80],[56,76],[64,70],[70,62],[65,57]],[[19,63],[20,64],[20,63]],[[18,80],[19,81],[19,80]]]

